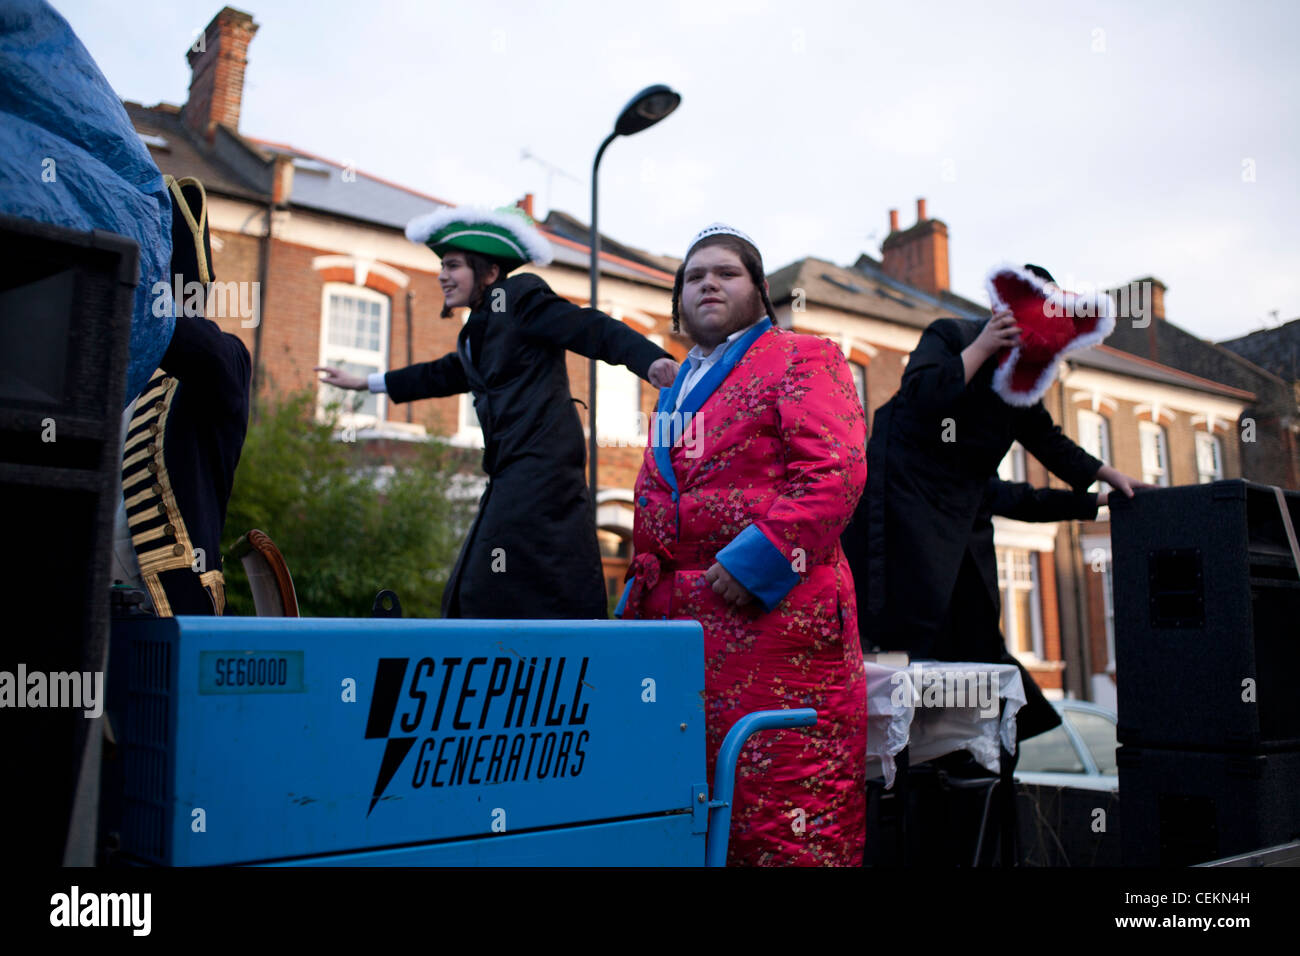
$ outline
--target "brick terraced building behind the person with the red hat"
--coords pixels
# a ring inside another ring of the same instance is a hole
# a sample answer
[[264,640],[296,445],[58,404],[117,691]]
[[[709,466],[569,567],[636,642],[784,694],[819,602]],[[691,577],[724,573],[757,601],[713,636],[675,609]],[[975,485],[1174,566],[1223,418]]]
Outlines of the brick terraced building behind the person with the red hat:
[[[948,285],[948,226],[918,200],[904,230],[889,213],[880,260],[853,267],[802,259],[770,277],[786,328],[833,338],[848,356],[868,427],[898,389],[909,352],[936,319],[983,319],[988,310]],[[1078,444],[1153,484],[1242,475],[1235,425],[1254,394],[1097,346],[1071,355],[1044,405]],[[1014,446],[1001,475],[1063,486]],[[1114,706],[1110,536],[1097,522],[1030,524],[994,518],[1004,633],[1049,695]]]

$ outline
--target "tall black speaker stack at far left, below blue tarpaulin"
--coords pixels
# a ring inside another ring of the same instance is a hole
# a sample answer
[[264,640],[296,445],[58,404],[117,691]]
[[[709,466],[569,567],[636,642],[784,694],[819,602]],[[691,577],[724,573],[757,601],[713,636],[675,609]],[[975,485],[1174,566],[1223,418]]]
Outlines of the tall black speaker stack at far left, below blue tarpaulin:
[[[104,667],[138,259],[120,235],[0,216],[0,671],[14,683]],[[52,702],[0,710],[6,849],[29,864],[62,860],[91,726]]]

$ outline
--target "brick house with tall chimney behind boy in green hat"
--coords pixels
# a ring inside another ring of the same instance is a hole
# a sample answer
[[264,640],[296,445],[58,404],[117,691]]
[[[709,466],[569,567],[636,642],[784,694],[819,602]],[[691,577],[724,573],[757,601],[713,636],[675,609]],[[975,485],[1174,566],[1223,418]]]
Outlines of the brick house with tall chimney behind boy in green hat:
[[[192,75],[183,105],[125,104],[159,168],[178,178],[198,177],[205,186],[216,278],[234,284],[224,302],[247,306],[224,306],[211,317],[248,347],[256,395],[316,389],[322,414],[332,401],[360,399],[342,416],[342,436],[355,438],[373,460],[399,455],[406,442],[430,436],[481,447],[469,395],[390,406],[384,395],[318,385],[313,365],[389,371],[455,349],[463,317],[439,319],[438,258],[403,232],[411,219],[447,202],[240,133],[243,75],[256,31],[250,14],[224,8],[208,23],[203,43],[186,52]],[[532,213],[530,196],[520,204]],[[555,261],[529,271],[558,294],[586,304],[586,228],[556,212],[541,228]],[[604,239],[599,307],[680,359],[689,342],[671,333],[675,268],[675,260]],[[585,408],[588,362],[569,354],[568,365],[572,394]],[[627,369],[599,363],[598,397],[598,440],[604,446],[598,524],[614,589],[630,559],[632,486],[656,392]],[[469,458],[474,460],[465,493],[477,496],[484,477],[476,457]]]

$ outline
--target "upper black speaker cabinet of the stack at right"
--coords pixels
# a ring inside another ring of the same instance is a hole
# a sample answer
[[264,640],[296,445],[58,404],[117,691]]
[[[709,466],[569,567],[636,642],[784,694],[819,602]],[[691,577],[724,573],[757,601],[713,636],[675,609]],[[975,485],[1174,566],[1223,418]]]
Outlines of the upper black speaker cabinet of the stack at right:
[[[1284,492],[1300,528],[1300,493]],[[1274,490],[1112,496],[1119,741],[1300,749],[1300,572]]]

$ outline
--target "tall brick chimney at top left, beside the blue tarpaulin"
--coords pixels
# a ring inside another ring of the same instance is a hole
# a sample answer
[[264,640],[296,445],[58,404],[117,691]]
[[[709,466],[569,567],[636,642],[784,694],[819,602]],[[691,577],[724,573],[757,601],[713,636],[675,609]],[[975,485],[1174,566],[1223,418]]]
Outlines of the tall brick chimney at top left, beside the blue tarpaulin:
[[186,52],[190,98],[181,120],[200,137],[211,140],[218,122],[239,129],[248,43],[256,33],[251,13],[224,7]]

